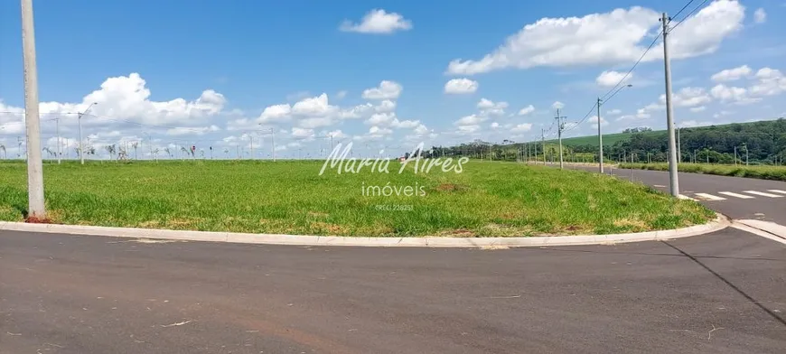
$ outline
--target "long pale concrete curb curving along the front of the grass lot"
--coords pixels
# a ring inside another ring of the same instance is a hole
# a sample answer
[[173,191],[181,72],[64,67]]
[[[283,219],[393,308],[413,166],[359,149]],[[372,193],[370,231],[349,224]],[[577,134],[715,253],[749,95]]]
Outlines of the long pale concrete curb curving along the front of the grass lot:
[[355,247],[547,247],[571,245],[616,244],[688,238],[714,232],[731,225],[728,219],[716,214],[715,220],[704,225],[662,231],[617,235],[581,235],[532,238],[355,238],[340,236],[300,236],[280,234],[248,234],[211,231],[181,231],[152,228],[107,228],[98,226],[27,224],[0,221],[2,231],[45,232],[113,238],[156,238],[187,241],[232,242],[243,244],[295,246],[355,246]]

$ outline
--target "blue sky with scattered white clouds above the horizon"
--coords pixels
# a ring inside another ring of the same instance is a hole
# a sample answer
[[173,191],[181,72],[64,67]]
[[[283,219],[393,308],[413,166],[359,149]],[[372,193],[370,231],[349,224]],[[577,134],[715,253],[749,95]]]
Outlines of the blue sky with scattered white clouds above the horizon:
[[[83,124],[96,146],[250,143],[265,156],[275,134],[279,156],[316,156],[329,135],[388,151],[529,141],[551,126],[556,102],[568,122],[587,118],[566,135],[589,135],[594,99],[652,42],[658,14],[686,3],[36,0],[42,135],[56,145],[51,119],[61,118],[72,148],[74,112],[90,101],[98,106]],[[0,4],[9,152],[23,135],[19,14],[19,2]],[[784,17],[786,1],[716,0],[674,30],[678,124],[786,116]],[[625,82],[633,87],[604,105],[605,131],[665,126],[662,77],[659,44]]]

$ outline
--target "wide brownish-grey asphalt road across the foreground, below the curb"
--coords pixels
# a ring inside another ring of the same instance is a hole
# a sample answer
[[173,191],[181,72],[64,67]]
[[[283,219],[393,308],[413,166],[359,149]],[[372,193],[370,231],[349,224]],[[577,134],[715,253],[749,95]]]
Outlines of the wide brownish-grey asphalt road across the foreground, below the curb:
[[507,250],[0,231],[0,353],[783,353],[786,247]]

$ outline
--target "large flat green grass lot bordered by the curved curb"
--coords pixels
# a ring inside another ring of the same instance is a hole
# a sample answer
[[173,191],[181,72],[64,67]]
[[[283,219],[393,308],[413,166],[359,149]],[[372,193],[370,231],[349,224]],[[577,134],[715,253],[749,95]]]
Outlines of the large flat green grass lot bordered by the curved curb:
[[[54,222],[342,236],[513,237],[679,228],[713,214],[639,184],[589,172],[473,161],[462,173],[322,176],[322,162],[45,163]],[[368,169],[368,168],[367,168]],[[423,186],[426,196],[364,196],[362,186]],[[25,165],[0,163],[0,219],[21,221]],[[378,205],[412,210],[379,210]],[[409,209],[409,207],[405,207]]]

